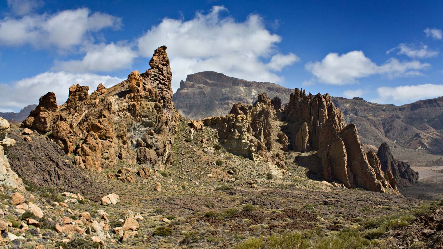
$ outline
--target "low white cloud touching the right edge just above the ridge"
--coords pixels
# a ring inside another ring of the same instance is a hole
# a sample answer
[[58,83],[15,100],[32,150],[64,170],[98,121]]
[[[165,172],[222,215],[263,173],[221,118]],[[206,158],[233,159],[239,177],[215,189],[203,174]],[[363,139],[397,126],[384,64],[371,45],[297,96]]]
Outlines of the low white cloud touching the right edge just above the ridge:
[[377,88],[378,97],[370,100],[380,104],[404,104],[443,96],[443,85],[423,84],[416,86],[382,86]]

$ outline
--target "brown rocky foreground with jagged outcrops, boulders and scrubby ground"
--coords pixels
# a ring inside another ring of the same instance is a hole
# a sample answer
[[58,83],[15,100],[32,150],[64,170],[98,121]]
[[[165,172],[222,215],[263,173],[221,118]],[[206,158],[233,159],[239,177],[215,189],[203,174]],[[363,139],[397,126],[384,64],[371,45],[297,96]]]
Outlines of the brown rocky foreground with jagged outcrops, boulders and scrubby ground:
[[2,248],[442,246],[443,201],[399,195],[396,168],[365,153],[329,95],[296,89],[283,108],[260,94],[189,120],[165,50],[109,89],[71,86],[61,106],[47,93],[21,128],[0,122],[16,141],[0,160],[24,186],[0,186]]

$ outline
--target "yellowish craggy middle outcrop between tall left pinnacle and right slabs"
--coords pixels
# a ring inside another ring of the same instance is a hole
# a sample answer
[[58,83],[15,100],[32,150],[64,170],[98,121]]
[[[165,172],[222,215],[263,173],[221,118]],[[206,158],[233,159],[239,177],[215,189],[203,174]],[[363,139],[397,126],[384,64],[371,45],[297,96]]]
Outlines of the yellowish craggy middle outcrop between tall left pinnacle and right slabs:
[[[265,93],[258,95],[254,105],[235,104],[226,116],[203,120],[206,126],[217,129],[219,142],[227,151],[254,159],[276,159],[272,150],[276,145],[276,111]],[[281,165],[280,165],[281,166]]]

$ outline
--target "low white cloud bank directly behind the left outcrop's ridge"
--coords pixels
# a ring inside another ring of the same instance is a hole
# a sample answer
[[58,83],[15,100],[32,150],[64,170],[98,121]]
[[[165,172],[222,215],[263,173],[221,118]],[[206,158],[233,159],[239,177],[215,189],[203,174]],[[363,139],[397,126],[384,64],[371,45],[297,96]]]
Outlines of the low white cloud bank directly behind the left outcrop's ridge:
[[22,109],[26,105],[38,104],[39,98],[47,92],[54,92],[59,105],[68,98],[68,89],[74,84],[90,86],[90,91],[98,84],[110,87],[125,79],[97,74],[73,74],[67,72],[45,72],[32,78],[24,78],[10,85],[0,84],[0,108]]

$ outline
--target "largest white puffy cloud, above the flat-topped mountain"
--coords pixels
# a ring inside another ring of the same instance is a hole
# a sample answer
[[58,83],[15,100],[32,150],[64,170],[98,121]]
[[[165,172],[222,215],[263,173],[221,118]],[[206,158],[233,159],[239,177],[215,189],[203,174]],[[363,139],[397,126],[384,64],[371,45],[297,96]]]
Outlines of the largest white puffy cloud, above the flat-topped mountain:
[[138,39],[140,54],[150,57],[160,45],[167,46],[174,90],[187,74],[203,70],[247,80],[282,82],[276,72],[299,58],[276,51],[281,37],[269,32],[260,16],[249,15],[244,22],[236,22],[221,17],[222,12],[227,9],[214,6],[208,14],[197,12],[188,21],[163,19]]

